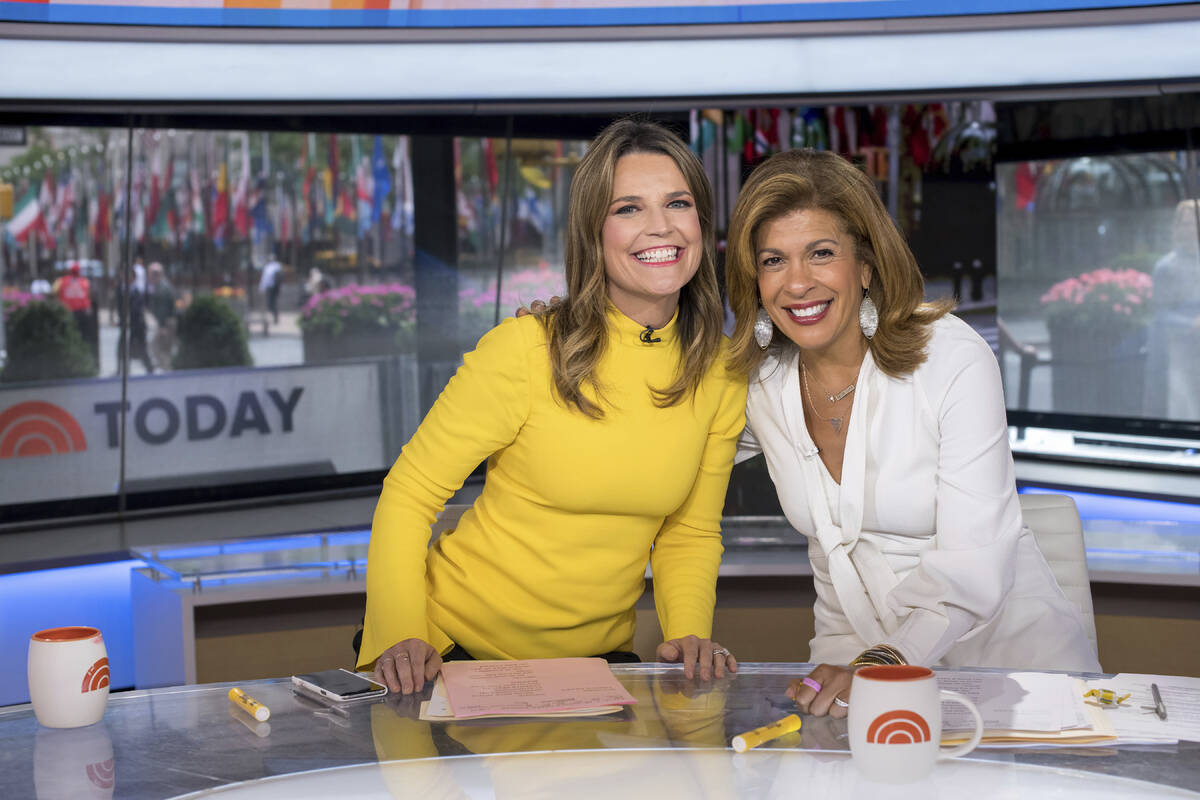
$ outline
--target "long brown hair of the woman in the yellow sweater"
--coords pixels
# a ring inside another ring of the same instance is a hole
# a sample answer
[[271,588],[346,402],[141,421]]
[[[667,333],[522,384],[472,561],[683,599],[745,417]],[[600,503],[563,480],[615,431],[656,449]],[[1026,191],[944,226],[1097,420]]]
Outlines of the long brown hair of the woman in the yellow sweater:
[[700,266],[679,291],[679,372],[662,389],[653,387],[659,407],[677,405],[696,391],[721,347],[721,299],[716,287],[713,239],[713,190],[695,154],[655,122],[622,119],[606,127],[588,148],[571,179],[566,217],[566,299],[539,318],[550,339],[554,390],[569,407],[592,417],[604,416],[600,404],[583,393],[590,385],[596,399],[604,387],[596,367],[608,339],[608,282],[605,277],[602,228],[612,203],[617,161],[635,152],[670,156],[688,181],[700,217],[703,248]]

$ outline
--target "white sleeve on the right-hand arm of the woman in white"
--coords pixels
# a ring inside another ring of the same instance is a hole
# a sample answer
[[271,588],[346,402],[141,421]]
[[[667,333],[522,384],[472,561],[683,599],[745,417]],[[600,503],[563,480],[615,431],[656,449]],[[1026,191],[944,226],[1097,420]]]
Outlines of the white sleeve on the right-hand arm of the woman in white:
[[[935,663],[1000,613],[1015,578],[1021,511],[1001,389],[991,349],[954,338],[931,359],[937,415],[935,546],[892,590],[900,622],[890,644],[913,663]],[[940,402],[937,402],[940,401]]]

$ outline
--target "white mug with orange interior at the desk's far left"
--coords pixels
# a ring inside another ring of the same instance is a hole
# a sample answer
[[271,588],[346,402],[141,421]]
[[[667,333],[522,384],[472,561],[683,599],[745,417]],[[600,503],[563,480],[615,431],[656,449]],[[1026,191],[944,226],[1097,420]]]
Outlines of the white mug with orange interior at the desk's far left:
[[29,700],[47,728],[78,728],[104,716],[108,652],[97,628],[52,627],[30,637]]

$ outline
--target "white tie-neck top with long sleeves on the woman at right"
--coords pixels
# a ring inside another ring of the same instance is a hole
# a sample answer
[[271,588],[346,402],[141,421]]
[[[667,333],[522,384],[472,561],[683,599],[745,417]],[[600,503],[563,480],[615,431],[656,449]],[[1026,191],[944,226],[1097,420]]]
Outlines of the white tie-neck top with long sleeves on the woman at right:
[[799,353],[751,377],[738,459],[763,452],[809,539],[814,662],[887,643],[911,663],[1099,670],[1079,612],[1021,519],[1000,368],[966,323],[934,324],[928,359],[890,378],[868,353],[841,485],[804,423]]

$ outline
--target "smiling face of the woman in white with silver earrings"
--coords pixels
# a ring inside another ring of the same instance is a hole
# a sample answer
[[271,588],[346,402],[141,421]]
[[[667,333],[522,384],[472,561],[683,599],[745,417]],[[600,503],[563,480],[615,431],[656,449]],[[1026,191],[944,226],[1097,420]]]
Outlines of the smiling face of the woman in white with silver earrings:
[[828,211],[792,211],[763,224],[755,243],[758,296],[775,326],[802,349],[851,361],[866,339],[858,326],[871,270]]

